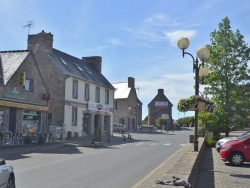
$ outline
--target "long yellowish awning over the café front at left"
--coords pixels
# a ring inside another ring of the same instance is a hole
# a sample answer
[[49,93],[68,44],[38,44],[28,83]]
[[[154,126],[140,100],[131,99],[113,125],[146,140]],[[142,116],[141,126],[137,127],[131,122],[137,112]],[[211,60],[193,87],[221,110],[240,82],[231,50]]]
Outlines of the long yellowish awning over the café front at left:
[[38,110],[38,111],[49,111],[48,106],[39,105],[35,103],[27,103],[22,101],[11,101],[6,99],[0,99],[0,106],[9,106],[9,107],[24,108],[24,109]]

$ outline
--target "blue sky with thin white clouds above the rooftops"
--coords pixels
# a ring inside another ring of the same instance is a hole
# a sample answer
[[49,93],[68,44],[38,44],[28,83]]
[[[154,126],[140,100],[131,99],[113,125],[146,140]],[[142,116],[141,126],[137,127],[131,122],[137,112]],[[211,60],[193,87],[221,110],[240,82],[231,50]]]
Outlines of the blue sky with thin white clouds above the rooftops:
[[110,83],[135,78],[143,119],[158,89],[173,104],[173,119],[194,115],[177,110],[180,99],[195,93],[192,58],[182,57],[179,38],[189,38],[186,51],[196,57],[227,16],[250,43],[247,0],[0,0],[0,7],[0,51],[25,50],[28,34],[51,32],[55,49],[101,56]]

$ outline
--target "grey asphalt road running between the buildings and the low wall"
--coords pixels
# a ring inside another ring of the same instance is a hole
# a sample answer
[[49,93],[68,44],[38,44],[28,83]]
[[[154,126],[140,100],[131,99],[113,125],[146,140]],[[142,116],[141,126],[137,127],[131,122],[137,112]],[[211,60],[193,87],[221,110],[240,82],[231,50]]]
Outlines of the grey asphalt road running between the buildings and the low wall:
[[17,188],[129,188],[187,144],[192,133],[188,128],[166,134],[135,133],[134,143],[14,154],[15,160],[9,157],[7,162],[15,169]]

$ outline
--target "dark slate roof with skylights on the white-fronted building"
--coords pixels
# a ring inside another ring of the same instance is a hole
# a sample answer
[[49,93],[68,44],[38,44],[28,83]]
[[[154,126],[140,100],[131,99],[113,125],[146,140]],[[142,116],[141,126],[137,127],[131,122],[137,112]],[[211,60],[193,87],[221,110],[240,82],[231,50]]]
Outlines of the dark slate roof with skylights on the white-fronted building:
[[56,49],[53,49],[49,56],[63,74],[114,89],[102,73],[90,63]]

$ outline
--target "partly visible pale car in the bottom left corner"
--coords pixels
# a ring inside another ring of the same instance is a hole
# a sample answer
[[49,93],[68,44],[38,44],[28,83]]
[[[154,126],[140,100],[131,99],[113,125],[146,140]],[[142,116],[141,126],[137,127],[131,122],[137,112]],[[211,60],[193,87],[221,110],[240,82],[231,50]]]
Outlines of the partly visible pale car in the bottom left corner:
[[15,188],[15,175],[12,166],[0,159],[0,188]]

